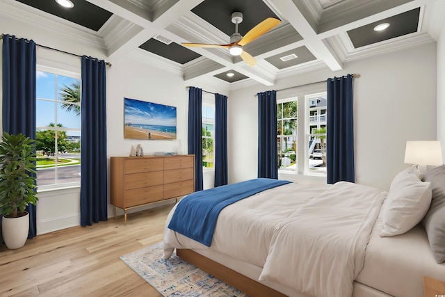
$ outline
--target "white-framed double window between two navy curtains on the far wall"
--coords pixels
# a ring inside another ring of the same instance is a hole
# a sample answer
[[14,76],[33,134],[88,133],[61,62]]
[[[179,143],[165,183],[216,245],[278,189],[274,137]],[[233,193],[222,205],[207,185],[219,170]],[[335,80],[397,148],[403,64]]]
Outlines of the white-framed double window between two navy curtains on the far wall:
[[326,175],[326,93],[277,101],[278,169]]

